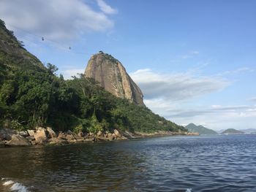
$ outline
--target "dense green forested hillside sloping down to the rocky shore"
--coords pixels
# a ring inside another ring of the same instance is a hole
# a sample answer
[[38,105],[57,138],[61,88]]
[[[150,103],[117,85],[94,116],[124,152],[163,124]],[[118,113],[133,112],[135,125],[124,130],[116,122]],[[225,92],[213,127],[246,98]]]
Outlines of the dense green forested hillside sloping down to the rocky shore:
[[[0,20],[1,21],[1,20]],[[186,131],[146,107],[119,99],[83,74],[57,77],[57,67],[27,52],[0,22],[0,127],[56,131]]]

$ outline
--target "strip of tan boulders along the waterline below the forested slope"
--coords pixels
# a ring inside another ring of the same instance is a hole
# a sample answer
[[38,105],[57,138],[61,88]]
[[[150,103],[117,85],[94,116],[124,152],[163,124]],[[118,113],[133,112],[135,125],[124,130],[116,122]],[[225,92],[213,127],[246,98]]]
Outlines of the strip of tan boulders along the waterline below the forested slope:
[[142,137],[162,137],[170,135],[198,135],[190,132],[157,131],[151,134],[140,132],[131,133],[129,131],[113,130],[113,133],[99,131],[97,134],[85,134],[72,131],[56,133],[50,127],[37,127],[34,130],[15,131],[10,128],[0,128],[0,147],[7,146],[29,146],[29,145],[66,145],[80,142],[97,142],[126,140]]

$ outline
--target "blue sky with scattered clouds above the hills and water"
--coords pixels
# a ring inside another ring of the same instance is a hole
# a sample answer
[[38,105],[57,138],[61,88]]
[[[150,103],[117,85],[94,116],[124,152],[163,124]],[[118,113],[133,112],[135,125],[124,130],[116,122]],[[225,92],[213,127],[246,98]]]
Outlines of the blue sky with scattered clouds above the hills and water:
[[66,79],[102,50],[153,112],[214,130],[256,128],[255,10],[254,0],[0,1],[7,28]]

